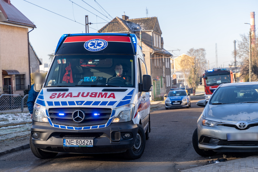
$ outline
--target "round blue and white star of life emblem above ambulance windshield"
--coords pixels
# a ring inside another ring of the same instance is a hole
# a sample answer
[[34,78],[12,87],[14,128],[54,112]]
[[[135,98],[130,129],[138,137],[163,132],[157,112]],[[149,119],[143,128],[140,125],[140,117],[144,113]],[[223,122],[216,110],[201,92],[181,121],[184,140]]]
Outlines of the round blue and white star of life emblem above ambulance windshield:
[[100,51],[107,47],[107,41],[102,39],[88,40],[84,43],[84,48],[88,51]]

